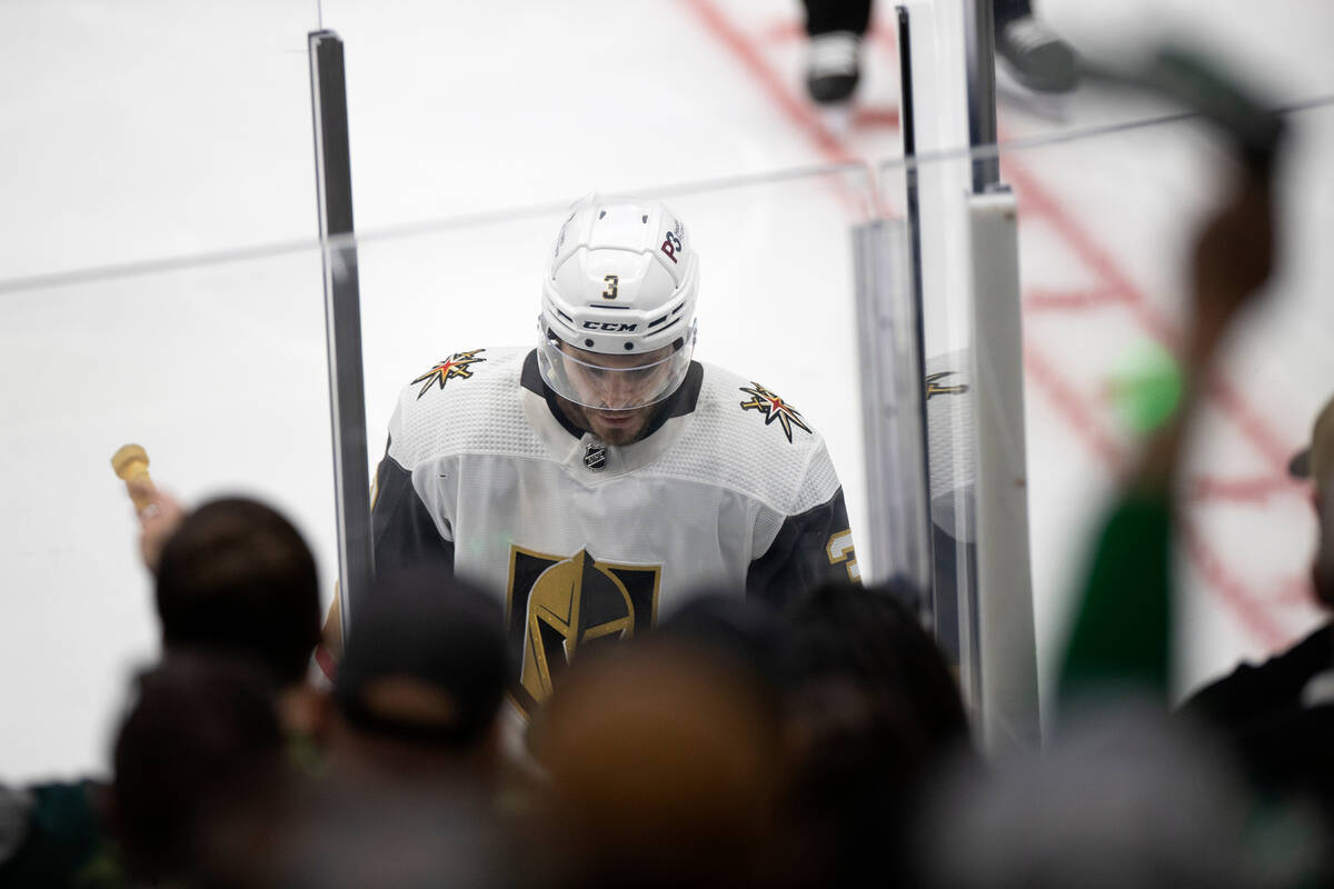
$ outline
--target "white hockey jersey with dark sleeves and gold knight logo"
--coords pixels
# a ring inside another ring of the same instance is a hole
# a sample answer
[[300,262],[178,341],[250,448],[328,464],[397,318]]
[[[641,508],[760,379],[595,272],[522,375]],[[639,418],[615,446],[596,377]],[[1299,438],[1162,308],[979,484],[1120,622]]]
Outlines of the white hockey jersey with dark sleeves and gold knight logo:
[[694,593],[782,604],[859,580],[824,443],[764,387],[692,363],[624,446],[554,397],[532,351],[452,355],[400,393],[375,480],[376,573],[431,566],[500,597],[524,712],[578,648]]

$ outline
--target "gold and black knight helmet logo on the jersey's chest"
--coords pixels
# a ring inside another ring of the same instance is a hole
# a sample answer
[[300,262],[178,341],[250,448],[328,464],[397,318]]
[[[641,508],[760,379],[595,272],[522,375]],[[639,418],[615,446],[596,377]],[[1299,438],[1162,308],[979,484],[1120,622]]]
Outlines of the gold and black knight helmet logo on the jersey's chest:
[[511,545],[506,632],[510,650],[523,652],[510,686],[519,709],[532,713],[576,652],[647,632],[660,576],[659,565],[603,562],[587,549],[567,558]]

